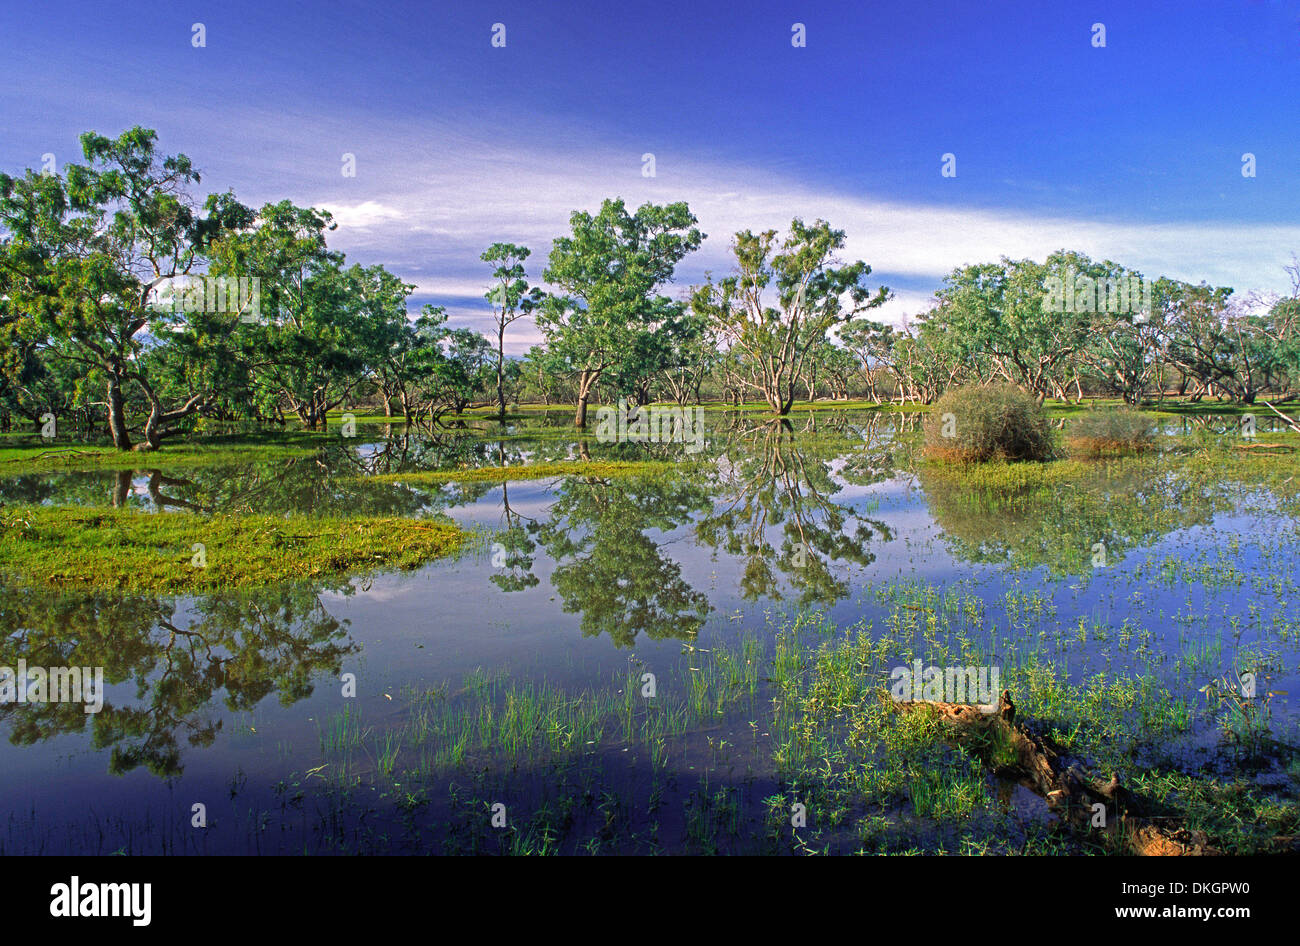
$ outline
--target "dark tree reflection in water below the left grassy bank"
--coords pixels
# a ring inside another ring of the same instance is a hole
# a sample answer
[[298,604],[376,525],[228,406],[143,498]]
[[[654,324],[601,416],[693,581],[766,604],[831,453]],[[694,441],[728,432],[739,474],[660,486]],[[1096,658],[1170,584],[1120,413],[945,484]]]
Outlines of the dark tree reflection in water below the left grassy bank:
[[321,604],[325,590],[292,585],[231,590],[179,600],[152,595],[69,593],[0,580],[0,665],[103,667],[108,686],[134,684],[130,703],[107,699],[99,713],[82,703],[0,704],[14,745],[91,730],[110,748],[109,772],[140,765],[161,777],[183,771],[183,748],[209,746],[221,730],[207,711],[214,697],[231,712],[276,694],[283,706],[312,693],[320,674],[338,676],[356,652],[346,622]]

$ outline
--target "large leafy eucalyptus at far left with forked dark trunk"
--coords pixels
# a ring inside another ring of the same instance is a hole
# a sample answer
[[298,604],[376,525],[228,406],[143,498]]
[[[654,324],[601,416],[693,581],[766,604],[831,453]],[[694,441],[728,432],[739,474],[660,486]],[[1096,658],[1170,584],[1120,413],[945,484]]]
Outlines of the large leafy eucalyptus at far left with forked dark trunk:
[[173,337],[221,343],[229,334],[225,316],[199,307],[160,317],[156,287],[199,272],[212,240],[251,220],[230,194],[209,195],[200,208],[190,194],[200,181],[190,159],[159,155],[156,140],[138,126],[116,139],[87,131],[81,136],[87,164],[69,165],[65,175],[0,174],[6,317],[43,356],[103,378],[120,450],[133,446],[129,389],[147,403],[140,446],[148,448],[212,399],[202,386],[165,403],[142,357],[146,329],[165,325]]

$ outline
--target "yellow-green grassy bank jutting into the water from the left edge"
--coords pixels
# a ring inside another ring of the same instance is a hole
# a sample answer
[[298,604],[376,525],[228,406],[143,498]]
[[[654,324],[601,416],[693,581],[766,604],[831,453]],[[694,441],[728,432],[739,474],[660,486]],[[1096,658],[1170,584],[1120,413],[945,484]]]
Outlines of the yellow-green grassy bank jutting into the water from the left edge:
[[38,585],[126,591],[204,591],[416,568],[456,552],[465,538],[455,525],[412,518],[0,511],[6,570]]

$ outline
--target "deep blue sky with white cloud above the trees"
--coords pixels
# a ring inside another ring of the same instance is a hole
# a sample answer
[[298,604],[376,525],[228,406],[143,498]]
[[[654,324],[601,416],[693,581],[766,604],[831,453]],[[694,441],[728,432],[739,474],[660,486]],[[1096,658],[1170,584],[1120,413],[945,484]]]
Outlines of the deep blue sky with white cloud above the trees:
[[1245,292],[1300,252],[1300,3],[56,1],[6,4],[0,55],[0,169],[146,125],[204,190],[330,208],[333,246],[478,327],[488,243],[540,277],[616,195],[690,203],[682,288],[734,230],[826,217],[893,320],[1004,253]]

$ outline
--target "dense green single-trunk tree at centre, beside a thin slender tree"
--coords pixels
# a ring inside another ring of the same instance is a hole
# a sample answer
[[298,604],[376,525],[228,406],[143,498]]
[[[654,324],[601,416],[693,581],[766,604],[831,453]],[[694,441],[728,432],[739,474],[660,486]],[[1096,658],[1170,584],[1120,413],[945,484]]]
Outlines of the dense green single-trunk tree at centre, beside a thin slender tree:
[[664,337],[680,329],[684,304],[660,294],[677,264],[703,240],[684,203],[644,204],[629,213],[621,199],[594,216],[575,211],[572,234],[551,247],[543,277],[562,291],[538,309],[551,364],[577,378],[576,426],[606,373],[634,385],[663,365]]

